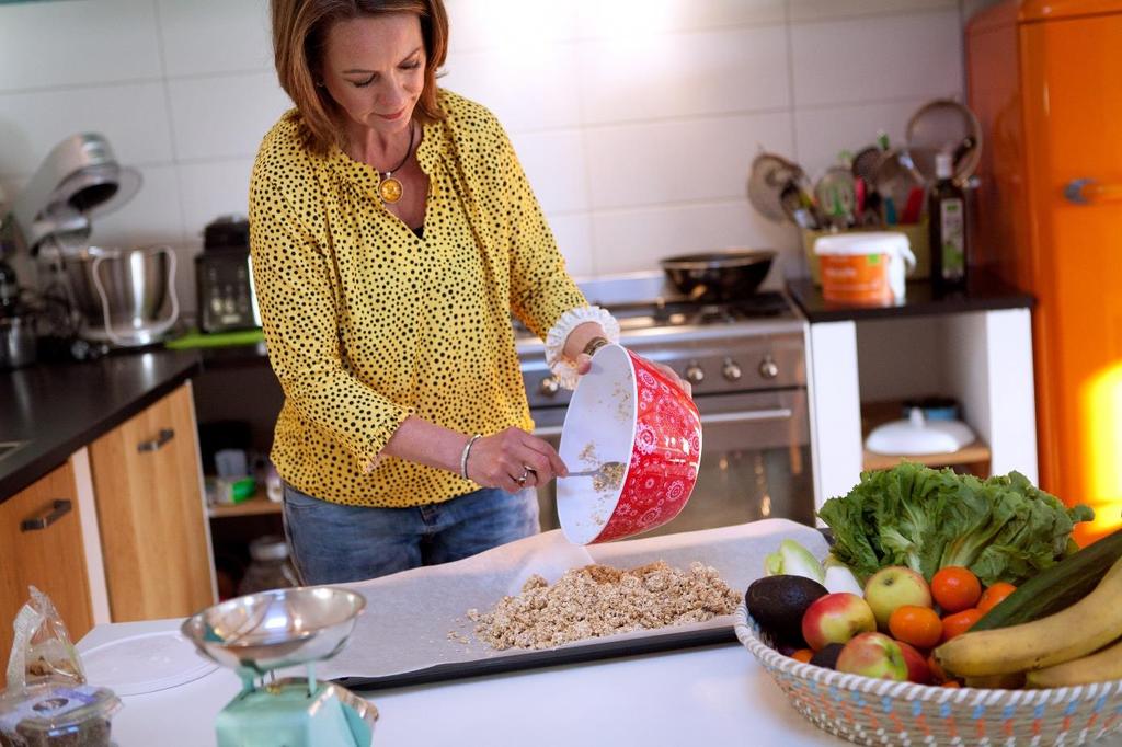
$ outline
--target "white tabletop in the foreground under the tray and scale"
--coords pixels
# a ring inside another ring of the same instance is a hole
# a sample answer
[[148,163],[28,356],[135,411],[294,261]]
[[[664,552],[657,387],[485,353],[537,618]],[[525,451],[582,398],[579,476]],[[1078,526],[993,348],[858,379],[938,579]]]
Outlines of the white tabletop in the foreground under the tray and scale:
[[[180,622],[100,625],[77,648],[173,630]],[[113,741],[214,745],[214,717],[239,686],[232,671],[220,668],[169,690],[125,695],[113,717]],[[378,690],[368,698],[380,713],[378,746],[848,744],[799,716],[739,644]]]

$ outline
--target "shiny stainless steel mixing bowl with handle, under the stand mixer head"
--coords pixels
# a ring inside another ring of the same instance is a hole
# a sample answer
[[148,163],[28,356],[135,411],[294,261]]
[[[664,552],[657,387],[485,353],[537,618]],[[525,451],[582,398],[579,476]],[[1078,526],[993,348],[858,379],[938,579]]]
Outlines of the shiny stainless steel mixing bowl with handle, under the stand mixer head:
[[[64,261],[86,339],[145,345],[159,340],[180,316],[169,247],[89,247]],[[171,308],[160,317],[165,305]]]

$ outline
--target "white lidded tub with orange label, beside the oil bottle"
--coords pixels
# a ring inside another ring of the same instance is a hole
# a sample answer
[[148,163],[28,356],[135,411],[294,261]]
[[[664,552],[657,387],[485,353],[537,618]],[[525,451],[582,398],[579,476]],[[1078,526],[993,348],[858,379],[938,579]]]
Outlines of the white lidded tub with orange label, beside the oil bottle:
[[908,237],[898,232],[837,233],[815,241],[822,297],[861,306],[904,299],[904,276],[916,268]]

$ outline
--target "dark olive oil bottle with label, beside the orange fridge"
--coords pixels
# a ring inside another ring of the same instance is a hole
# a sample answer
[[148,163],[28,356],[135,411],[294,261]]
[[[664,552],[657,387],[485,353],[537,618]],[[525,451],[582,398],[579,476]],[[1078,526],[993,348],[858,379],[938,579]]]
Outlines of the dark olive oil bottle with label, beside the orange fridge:
[[950,154],[935,158],[936,183],[928,197],[931,282],[940,288],[966,285],[966,200],[955,184]]

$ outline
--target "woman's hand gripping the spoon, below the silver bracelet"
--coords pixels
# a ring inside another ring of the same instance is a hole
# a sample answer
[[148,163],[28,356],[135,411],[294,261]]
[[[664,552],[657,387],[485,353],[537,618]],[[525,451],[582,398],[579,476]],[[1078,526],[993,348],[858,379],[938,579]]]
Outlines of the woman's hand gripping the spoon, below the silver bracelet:
[[515,427],[476,441],[467,471],[473,482],[507,492],[535,488],[569,473],[549,442]]

